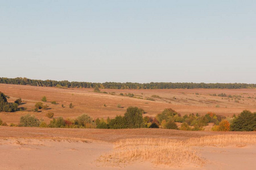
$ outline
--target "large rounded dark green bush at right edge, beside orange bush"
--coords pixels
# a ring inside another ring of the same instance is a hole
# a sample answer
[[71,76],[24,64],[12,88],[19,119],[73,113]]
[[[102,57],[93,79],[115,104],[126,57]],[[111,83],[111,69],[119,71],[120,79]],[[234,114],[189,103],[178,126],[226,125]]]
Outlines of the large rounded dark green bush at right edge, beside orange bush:
[[232,131],[254,131],[256,130],[256,113],[250,111],[243,111],[236,118],[234,118],[230,125]]

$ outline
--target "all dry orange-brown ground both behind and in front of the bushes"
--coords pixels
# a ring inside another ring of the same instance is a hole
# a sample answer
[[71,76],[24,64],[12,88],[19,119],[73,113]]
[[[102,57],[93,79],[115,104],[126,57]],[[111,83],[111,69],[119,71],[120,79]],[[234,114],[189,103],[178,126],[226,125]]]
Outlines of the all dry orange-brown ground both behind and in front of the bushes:
[[[213,112],[232,117],[244,109],[256,111],[256,90],[176,89],[101,90],[0,84],[10,102],[21,97],[26,111],[1,112],[7,124],[34,114],[49,122],[54,117],[93,118],[123,115],[129,106],[156,116],[165,108],[181,115]],[[135,97],[119,95],[134,94]],[[226,94],[221,97],[212,94]],[[34,112],[47,97],[48,110]],[[148,98],[154,99],[146,100]],[[57,104],[52,104],[56,101]],[[73,108],[68,105],[72,103]],[[61,105],[64,105],[64,108]],[[104,106],[105,104],[105,106]],[[117,105],[120,104],[121,108]],[[209,129],[212,125],[209,125]],[[207,128],[207,127],[206,127]],[[62,129],[0,126],[0,169],[254,169],[255,131],[182,131],[168,129]]]

